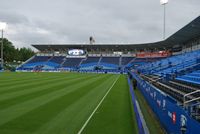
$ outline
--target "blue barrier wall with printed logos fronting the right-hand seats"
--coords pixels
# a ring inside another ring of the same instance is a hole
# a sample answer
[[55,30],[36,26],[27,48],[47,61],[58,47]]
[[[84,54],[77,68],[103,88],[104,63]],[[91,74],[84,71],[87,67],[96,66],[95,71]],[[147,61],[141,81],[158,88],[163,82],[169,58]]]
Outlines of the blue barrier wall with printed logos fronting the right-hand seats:
[[149,84],[140,76],[129,72],[138,82],[138,89],[159,119],[167,133],[170,134],[196,134],[200,131],[200,123],[178,106],[170,96]]

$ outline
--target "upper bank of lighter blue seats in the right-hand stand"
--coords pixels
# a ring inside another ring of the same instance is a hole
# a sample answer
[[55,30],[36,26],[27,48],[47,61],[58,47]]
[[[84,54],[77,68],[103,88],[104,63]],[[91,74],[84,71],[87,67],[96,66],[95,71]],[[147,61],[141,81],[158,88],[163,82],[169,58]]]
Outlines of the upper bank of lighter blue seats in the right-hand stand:
[[194,66],[197,63],[197,59],[200,58],[200,50],[185,53],[178,56],[172,56],[157,62],[152,62],[140,66],[138,70],[142,73],[148,74],[173,74],[182,71],[185,68]]

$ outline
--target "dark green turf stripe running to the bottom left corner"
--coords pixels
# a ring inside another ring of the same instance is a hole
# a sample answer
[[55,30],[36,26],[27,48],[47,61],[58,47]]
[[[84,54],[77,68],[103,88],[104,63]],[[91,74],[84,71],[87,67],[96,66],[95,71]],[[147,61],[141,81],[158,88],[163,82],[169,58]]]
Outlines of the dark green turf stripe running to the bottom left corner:
[[[72,92],[65,94],[62,97],[59,97],[53,101],[49,101],[45,105],[42,105],[38,107],[37,109],[34,109],[26,114],[23,114],[22,116],[11,120],[10,122],[0,126],[0,129],[22,129],[23,131],[27,132],[33,132],[37,130],[38,127],[40,127],[42,124],[48,122],[51,118],[59,114],[63,109],[70,106],[74,102],[76,102],[79,98],[84,96],[88,93],[88,90],[92,90],[95,86],[98,86],[101,84],[101,82],[106,77],[100,77],[93,81],[90,81],[84,86],[81,86],[77,88],[76,90],[73,90]],[[54,107],[53,107],[54,106]],[[35,122],[33,119],[37,118]],[[30,122],[31,123],[26,123]]]

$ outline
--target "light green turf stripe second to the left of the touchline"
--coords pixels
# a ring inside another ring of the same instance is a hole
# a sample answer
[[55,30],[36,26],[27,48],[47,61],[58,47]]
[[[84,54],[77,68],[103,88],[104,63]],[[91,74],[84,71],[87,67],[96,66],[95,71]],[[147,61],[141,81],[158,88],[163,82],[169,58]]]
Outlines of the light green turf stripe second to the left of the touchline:
[[[102,76],[102,75],[99,75]],[[68,94],[81,86],[90,84],[94,82],[98,78],[92,78],[88,79],[87,81],[84,82],[79,82],[78,84],[63,88],[62,90],[58,90],[53,93],[49,93],[46,95],[43,95],[41,97],[26,101],[24,103],[21,103],[19,105],[14,105],[11,106],[7,109],[1,110],[0,111],[0,125],[5,124],[8,121],[11,121],[19,116],[22,116],[23,114],[26,114],[27,112],[30,112],[31,110],[34,110],[42,105],[45,105],[46,103],[53,101],[55,99],[58,99],[65,94]]]

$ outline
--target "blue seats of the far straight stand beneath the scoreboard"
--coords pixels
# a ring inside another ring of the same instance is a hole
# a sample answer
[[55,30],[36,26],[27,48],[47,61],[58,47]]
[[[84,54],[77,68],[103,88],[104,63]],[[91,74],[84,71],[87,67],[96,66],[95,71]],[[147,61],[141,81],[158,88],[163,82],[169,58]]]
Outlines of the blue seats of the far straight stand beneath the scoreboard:
[[[94,68],[95,66],[103,66],[108,69],[117,69],[120,66],[126,66],[134,58],[133,57],[87,57],[74,58],[65,56],[35,56],[18,69],[29,68],[34,69],[39,65],[46,65],[46,68]],[[55,63],[55,64],[54,64]]]

